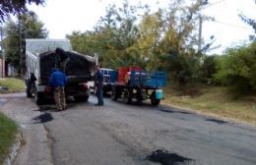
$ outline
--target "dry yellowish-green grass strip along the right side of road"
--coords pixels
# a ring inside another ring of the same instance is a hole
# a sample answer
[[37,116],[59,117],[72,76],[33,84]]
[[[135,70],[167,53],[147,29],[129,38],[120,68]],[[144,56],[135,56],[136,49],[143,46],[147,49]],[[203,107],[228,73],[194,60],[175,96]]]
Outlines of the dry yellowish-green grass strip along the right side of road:
[[226,87],[220,86],[201,86],[194,93],[184,95],[168,86],[163,103],[256,125],[256,96],[233,99]]

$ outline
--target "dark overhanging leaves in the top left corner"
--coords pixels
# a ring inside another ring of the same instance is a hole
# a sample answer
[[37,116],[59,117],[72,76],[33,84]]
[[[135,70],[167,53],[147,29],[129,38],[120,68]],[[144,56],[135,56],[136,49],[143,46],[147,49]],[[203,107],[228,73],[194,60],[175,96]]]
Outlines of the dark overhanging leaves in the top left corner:
[[3,23],[11,14],[22,14],[28,12],[26,4],[43,4],[45,0],[1,0],[0,23]]

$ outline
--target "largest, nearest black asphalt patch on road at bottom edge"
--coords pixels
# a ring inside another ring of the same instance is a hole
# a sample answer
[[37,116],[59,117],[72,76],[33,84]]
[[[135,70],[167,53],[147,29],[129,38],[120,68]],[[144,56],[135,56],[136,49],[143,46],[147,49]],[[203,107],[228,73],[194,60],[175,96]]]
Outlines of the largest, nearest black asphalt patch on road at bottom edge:
[[169,153],[162,149],[158,149],[152,152],[151,155],[146,157],[147,160],[160,163],[161,165],[178,165],[178,164],[190,164],[195,160],[187,157],[180,156],[176,153]]

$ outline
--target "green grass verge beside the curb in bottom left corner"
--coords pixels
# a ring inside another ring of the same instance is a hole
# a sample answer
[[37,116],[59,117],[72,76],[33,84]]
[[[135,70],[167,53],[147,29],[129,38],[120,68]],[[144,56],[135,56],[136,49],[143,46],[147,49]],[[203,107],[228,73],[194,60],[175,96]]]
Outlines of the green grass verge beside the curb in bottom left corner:
[[0,113],[0,164],[3,164],[17,133],[16,124]]

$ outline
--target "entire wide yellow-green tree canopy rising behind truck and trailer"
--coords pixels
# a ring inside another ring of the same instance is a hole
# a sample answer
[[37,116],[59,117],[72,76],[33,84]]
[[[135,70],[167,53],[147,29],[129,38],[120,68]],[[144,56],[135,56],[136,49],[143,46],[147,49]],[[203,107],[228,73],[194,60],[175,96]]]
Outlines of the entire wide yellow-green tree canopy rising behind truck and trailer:
[[167,8],[151,12],[147,5],[124,0],[122,7],[109,6],[94,30],[74,31],[67,37],[75,50],[97,53],[104,67],[139,65],[168,71],[171,78],[185,82],[196,78],[199,70],[198,19],[207,2],[184,2],[172,0]]

